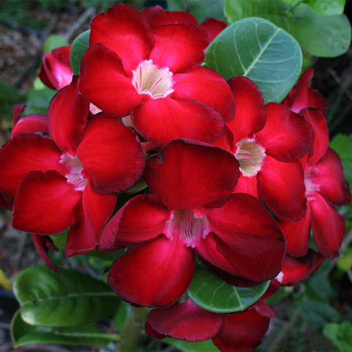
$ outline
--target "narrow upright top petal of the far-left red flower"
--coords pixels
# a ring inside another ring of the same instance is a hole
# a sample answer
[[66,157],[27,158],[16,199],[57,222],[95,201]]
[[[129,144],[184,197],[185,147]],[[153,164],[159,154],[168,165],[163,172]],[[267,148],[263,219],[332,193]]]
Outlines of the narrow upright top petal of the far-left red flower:
[[89,101],[77,90],[78,76],[56,93],[48,110],[49,133],[62,151],[75,152],[89,114]]

